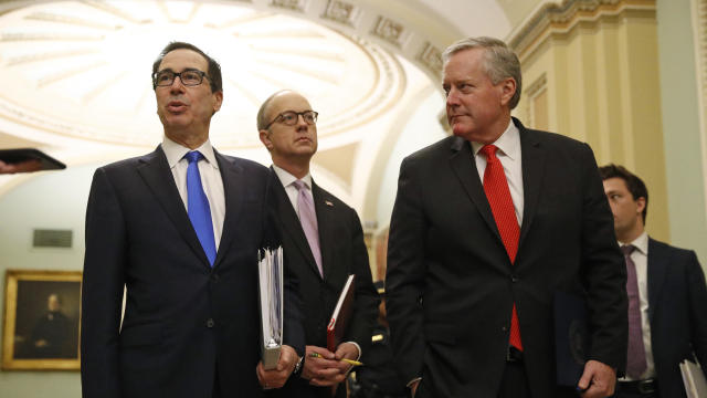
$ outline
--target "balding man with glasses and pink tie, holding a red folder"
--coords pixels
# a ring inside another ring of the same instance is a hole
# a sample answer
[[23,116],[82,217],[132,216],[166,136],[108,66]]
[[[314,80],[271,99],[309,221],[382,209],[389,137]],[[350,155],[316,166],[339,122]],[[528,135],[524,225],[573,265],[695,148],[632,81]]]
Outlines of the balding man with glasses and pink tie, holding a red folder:
[[[257,113],[257,129],[273,159],[273,192],[283,231],[285,266],[299,281],[306,355],[299,377],[283,389],[286,397],[346,397],[339,385],[371,341],[378,294],[368,264],[363,231],[356,211],[321,189],[309,175],[317,151],[317,113],[298,93],[273,94]],[[347,332],[335,352],[327,347],[327,324],[349,274],[355,304]],[[318,354],[321,357],[313,357]]]

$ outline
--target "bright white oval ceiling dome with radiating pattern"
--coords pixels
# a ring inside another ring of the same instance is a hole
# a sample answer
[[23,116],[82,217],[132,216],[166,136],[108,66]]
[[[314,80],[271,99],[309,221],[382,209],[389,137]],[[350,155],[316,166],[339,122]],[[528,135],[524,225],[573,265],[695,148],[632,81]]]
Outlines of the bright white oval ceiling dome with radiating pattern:
[[151,63],[176,40],[221,63],[211,137],[222,149],[261,145],[255,114],[277,90],[319,104],[324,138],[376,118],[404,88],[389,52],[304,19],[233,3],[62,1],[0,17],[0,116],[15,128],[154,146],[162,133]]

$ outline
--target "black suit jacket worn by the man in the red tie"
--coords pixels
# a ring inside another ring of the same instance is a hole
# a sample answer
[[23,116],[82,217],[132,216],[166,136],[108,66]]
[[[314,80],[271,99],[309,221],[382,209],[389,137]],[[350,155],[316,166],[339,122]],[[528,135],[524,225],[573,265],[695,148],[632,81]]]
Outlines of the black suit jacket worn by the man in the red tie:
[[625,266],[591,148],[520,129],[524,216],[515,264],[472,146],[447,137],[405,158],[390,224],[388,321],[420,397],[496,397],[517,305],[534,397],[555,396],[552,296],[587,296],[590,358],[623,369]]

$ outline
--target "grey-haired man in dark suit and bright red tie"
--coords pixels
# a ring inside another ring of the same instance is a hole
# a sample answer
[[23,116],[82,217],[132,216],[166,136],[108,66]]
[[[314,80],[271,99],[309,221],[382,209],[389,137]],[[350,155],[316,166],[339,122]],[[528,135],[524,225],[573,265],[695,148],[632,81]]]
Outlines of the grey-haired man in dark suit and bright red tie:
[[453,136],[400,167],[386,279],[399,370],[419,397],[556,397],[552,297],[592,326],[578,384],[613,394],[625,274],[591,148],[510,117],[520,63],[492,38],[443,54]]

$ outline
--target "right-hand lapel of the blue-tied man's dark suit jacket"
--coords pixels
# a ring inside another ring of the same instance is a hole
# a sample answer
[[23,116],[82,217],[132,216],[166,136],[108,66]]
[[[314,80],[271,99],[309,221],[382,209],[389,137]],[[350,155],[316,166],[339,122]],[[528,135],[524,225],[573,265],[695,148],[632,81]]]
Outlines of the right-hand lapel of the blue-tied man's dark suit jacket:
[[245,176],[242,172],[242,168],[232,160],[228,159],[223,155],[219,154],[215,149],[213,155],[219,164],[219,170],[221,171],[221,179],[223,180],[223,196],[225,201],[225,216],[223,218],[223,230],[221,232],[221,242],[219,243],[219,251],[217,252],[217,259],[213,261],[213,268],[215,269],[223,260],[225,252],[233,242],[235,229],[239,219],[239,213],[243,208],[244,195],[239,191],[239,188],[247,187],[244,181]]

